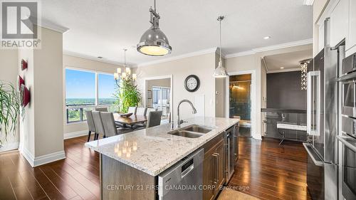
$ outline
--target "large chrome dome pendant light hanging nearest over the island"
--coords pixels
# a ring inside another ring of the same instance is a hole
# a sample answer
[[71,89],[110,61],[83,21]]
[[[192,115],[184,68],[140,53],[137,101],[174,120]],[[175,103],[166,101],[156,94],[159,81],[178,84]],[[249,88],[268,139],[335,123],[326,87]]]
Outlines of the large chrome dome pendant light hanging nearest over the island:
[[143,33],[140,43],[137,44],[137,51],[148,56],[164,56],[171,53],[172,46],[169,46],[167,36],[159,30],[160,17],[156,12],[156,0],[155,9],[151,7],[150,14],[150,23],[152,23],[152,26]]

